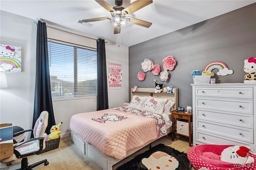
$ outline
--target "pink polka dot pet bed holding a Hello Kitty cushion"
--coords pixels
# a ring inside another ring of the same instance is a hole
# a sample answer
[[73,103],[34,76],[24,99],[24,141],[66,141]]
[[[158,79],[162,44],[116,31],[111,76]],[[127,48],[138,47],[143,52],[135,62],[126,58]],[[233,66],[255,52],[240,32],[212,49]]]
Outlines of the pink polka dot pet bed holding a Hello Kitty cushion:
[[[237,152],[232,152],[232,150],[230,149],[230,147],[233,147],[233,146],[234,145],[216,145],[216,144],[201,144],[201,145],[192,146],[187,153],[188,160],[191,162],[191,164],[194,166],[196,170],[199,170],[200,168],[202,169],[207,168],[209,170],[256,170],[256,155],[255,153],[252,153],[253,151],[252,152],[247,151],[246,153],[244,153],[245,155],[247,155],[247,158],[246,157],[244,158],[246,163],[230,162],[230,159],[232,160],[233,156],[234,158],[239,157],[237,154],[239,152],[238,150]],[[244,147],[244,146],[240,146],[240,147]],[[224,159],[224,154],[223,154],[224,152],[222,152],[223,150],[225,151],[227,150],[228,152],[231,153],[229,155],[228,154],[225,155],[228,162],[223,161]],[[221,155],[222,155],[222,160],[220,160]],[[230,155],[232,155],[232,157]],[[250,158],[250,163],[247,163],[248,158]]]

